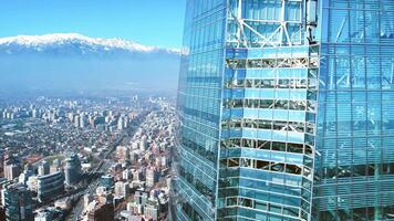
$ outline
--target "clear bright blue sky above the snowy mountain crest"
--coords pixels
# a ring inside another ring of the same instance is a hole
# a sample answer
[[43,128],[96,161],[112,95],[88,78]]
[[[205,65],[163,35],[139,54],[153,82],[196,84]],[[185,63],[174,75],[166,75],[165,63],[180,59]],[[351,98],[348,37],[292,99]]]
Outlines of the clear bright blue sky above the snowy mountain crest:
[[0,0],[0,38],[81,33],[180,48],[186,0]]

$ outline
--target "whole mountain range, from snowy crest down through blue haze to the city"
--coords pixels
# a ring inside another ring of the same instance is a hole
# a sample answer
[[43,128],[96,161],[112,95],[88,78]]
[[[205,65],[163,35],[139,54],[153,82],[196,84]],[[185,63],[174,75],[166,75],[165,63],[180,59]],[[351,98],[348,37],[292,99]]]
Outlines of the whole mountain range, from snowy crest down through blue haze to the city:
[[0,93],[176,88],[180,51],[77,33],[0,38]]

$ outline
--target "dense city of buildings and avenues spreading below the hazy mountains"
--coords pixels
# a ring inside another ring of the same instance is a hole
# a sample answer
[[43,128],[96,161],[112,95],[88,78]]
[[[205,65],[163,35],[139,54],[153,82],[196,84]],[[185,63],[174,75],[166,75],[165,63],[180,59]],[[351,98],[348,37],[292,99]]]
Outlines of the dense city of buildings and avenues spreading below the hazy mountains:
[[1,104],[0,220],[168,219],[173,98]]

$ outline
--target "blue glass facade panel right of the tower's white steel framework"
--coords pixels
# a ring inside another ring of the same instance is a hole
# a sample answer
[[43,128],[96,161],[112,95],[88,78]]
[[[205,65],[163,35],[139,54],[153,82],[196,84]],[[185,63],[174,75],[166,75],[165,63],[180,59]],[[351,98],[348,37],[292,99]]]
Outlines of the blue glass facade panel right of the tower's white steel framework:
[[314,212],[393,220],[394,1],[321,2]]

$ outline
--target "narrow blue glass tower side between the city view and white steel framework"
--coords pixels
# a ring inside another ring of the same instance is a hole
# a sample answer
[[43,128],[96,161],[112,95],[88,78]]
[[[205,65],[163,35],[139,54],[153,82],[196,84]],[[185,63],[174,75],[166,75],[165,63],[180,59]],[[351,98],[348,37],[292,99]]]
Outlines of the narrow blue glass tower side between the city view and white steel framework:
[[214,220],[224,69],[224,0],[187,2],[178,109],[177,220]]

